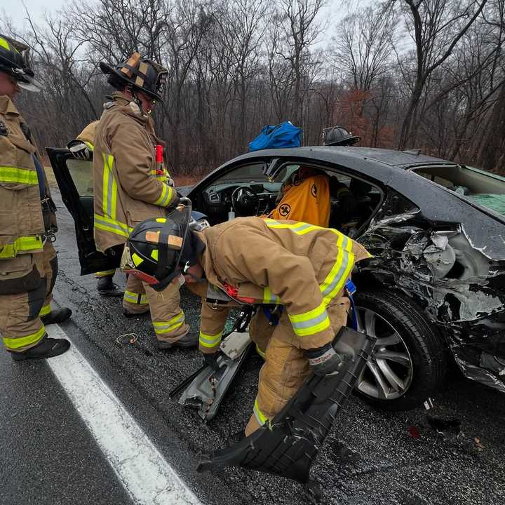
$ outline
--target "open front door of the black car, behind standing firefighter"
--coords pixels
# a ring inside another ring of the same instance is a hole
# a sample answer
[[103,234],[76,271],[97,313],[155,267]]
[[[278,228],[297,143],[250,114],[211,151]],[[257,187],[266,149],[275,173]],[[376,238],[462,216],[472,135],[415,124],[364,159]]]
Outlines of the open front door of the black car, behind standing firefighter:
[[63,203],[74,218],[81,275],[119,267],[121,249],[99,253],[93,238],[93,161],[74,158],[68,149],[46,148]]

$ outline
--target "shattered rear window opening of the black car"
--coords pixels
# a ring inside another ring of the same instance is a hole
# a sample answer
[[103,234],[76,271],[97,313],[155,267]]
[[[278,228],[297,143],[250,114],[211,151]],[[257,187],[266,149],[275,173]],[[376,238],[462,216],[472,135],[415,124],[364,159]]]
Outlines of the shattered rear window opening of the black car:
[[505,215],[505,179],[467,166],[430,166],[413,172],[466,196],[473,203]]

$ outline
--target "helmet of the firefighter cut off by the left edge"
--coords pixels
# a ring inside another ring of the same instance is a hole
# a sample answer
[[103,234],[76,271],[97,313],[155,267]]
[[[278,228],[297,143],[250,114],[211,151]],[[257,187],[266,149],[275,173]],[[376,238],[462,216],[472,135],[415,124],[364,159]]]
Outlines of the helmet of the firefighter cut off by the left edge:
[[5,72],[18,82],[21,88],[40,91],[41,83],[34,79],[28,63],[29,47],[0,34],[0,72]]

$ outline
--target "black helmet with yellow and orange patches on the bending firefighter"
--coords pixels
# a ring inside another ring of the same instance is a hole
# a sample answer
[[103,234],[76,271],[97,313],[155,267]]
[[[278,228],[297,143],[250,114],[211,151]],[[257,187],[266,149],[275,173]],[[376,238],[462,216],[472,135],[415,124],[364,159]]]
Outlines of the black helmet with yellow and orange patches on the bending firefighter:
[[177,206],[166,217],[142,221],[126,241],[121,269],[152,285],[165,288],[182,273],[182,253],[186,241],[191,206]]

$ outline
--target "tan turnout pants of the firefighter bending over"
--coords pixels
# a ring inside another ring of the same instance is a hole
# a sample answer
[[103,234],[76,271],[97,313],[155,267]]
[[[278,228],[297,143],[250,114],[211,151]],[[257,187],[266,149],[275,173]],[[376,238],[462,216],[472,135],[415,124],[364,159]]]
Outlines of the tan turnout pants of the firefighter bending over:
[[[349,298],[336,299],[326,307],[335,335],[347,322]],[[310,373],[309,361],[300,348],[300,338],[292,330],[288,314],[284,311],[278,325],[269,325],[260,310],[250,323],[250,337],[260,354],[264,354],[264,365],[260,370],[258,393],[253,415],[245,426],[249,436],[262,424],[269,422],[281,412]]]

